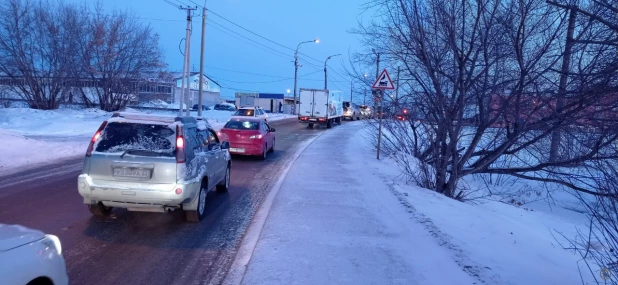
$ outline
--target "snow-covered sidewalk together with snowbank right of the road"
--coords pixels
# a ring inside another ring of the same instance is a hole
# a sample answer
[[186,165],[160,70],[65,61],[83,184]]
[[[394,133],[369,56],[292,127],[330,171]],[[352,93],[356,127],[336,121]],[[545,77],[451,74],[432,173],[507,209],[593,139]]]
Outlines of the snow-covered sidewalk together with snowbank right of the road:
[[596,284],[558,242],[586,226],[568,194],[463,203],[400,174],[363,123],[327,131],[284,179],[243,284]]

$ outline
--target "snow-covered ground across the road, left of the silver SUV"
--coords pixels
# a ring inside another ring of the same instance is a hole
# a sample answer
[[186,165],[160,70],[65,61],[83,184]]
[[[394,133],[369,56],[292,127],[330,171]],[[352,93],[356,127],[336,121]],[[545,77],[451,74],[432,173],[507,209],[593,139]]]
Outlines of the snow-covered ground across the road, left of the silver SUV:
[[[140,112],[138,110],[127,110]],[[175,115],[177,111],[143,111]],[[191,112],[197,115],[197,111]],[[53,163],[85,153],[88,142],[101,123],[112,115],[99,109],[34,110],[0,108],[0,175],[9,170]],[[202,115],[220,129],[231,111],[208,110]],[[269,114],[270,121],[290,118]]]

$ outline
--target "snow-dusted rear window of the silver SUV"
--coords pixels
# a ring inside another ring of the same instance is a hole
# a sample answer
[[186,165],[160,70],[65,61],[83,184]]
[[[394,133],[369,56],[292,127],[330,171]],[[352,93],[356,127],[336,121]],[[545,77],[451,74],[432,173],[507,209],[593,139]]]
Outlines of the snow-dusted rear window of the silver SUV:
[[[112,122],[107,124],[96,152],[147,151],[163,156],[173,156],[176,132],[168,126]],[[143,152],[140,152],[143,153]]]

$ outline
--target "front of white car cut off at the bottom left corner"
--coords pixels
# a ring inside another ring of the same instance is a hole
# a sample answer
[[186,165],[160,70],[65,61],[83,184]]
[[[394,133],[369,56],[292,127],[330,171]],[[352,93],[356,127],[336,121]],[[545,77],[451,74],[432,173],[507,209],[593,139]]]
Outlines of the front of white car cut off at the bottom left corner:
[[58,237],[0,224],[0,280],[7,285],[69,284]]

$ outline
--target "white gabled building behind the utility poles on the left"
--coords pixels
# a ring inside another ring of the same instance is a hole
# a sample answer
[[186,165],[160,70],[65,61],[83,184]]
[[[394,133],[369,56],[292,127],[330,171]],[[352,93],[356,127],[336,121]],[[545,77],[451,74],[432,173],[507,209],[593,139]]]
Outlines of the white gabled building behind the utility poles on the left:
[[[174,78],[174,80],[176,81],[176,87],[174,87],[173,91],[174,103],[180,103],[180,93],[182,91],[183,83],[182,77]],[[197,101],[200,94],[199,82],[199,72],[192,72],[191,77],[189,77],[189,102],[185,102],[185,104],[187,104],[189,108],[198,103]],[[219,85],[219,83],[212,80],[206,75],[202,75],[202,86],[202,105],[214,106],[221,103],[221,85]]]

